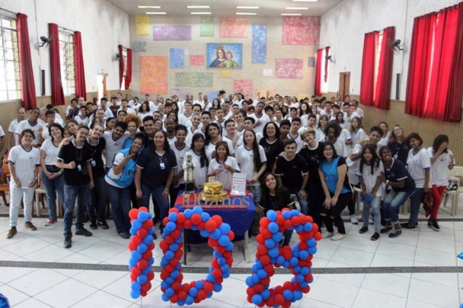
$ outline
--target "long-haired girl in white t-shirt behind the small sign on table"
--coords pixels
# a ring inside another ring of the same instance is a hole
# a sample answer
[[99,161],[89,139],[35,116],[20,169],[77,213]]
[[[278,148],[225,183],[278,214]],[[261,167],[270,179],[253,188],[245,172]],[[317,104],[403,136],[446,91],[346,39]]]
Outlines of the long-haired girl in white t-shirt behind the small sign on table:
[[242,136],[243,145],[236,150],[236,162],[241,170],[246,172],[247,189],[252,193],[254,203],[261,199],[259,177],[265,172],[266,155],[262,146],[257,144],[256,134],[252,129],[246,129]]

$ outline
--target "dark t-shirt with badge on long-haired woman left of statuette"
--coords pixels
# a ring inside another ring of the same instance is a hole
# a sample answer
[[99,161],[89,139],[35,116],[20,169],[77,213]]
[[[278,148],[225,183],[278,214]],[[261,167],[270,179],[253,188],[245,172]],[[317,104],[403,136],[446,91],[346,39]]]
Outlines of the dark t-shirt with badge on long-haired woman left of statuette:
[[[136,162],[141,170],[141,184],[153,189],[158,186],[165,186],[168,182],[170,170],[177,167],[175,152],[170,150],[169,159],[166,155],[158,155],[153,147],[145,148]],[[163,165],[161,165],[163,164]]]

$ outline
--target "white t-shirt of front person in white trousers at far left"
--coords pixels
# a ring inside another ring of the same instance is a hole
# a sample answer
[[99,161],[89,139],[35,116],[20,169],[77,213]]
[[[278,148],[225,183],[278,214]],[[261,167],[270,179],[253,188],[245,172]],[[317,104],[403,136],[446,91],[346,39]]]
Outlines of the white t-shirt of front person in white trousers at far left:
[[[13,146],[8,155],[8,162],[13,162],[16,177],[21,182],[21,188],[29,189],[29,184],[35,178],[35,167],[40,165],[39,149],[30,148],[30,150],[25,150],[23,146]],[[16,187],[13,179],[10,181],[10,187]]]

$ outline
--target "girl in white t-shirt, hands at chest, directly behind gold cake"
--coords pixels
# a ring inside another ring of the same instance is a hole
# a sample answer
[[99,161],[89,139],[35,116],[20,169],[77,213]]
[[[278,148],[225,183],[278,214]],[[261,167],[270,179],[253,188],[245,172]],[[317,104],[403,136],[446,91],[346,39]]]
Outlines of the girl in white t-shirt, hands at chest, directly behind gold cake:
[[210,177],[216,177],[216,181],[223,184],[223,189],[230,190],[233,173],[240,172],[240,167],[235,158],[230,156],[230,149],[225,141],[218,141],[215,152],[216,158],[209,163],[207,173]]

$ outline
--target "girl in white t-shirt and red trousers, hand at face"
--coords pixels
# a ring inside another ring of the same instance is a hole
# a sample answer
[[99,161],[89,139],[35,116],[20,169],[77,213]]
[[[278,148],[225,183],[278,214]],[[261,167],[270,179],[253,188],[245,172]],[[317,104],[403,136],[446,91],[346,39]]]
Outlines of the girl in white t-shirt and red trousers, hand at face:
[[[453,153],[448,149],[449,138],[447,135],[435,137],[433,147],[428,148],[431,161],[431,192],[433,194],[433,208],[430,212],[428,227],[435,231],[440,231],[438,225],[438,211],[440,201],[449,182],[448,171],[452,170],[455,164]],[[426,213],[426,216],[428,213]]]

